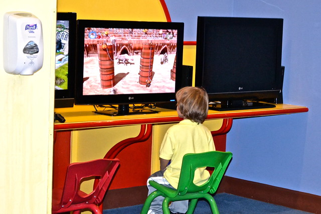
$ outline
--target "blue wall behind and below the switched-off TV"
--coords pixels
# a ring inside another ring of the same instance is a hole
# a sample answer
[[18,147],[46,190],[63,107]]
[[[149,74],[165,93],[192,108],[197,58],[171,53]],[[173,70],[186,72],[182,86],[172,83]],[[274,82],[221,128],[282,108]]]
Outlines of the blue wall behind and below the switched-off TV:
[[196,41],[197,16],[283,18],[284,103],[308,113],[234,120],[228,176],[321,195],[321,4],[319,0],[166,1]]

